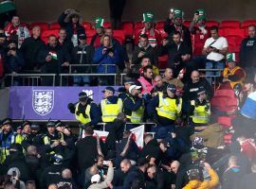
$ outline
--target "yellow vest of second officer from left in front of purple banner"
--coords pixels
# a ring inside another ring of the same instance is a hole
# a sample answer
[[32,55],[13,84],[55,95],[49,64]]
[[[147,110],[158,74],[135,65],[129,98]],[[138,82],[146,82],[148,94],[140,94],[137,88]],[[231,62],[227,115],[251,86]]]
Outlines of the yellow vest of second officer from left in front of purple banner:
[[107,104],[107,99],[101,100],[101,112],[103,122],[113,122],[122,112],[122,100],[119,98],[117,104]]

